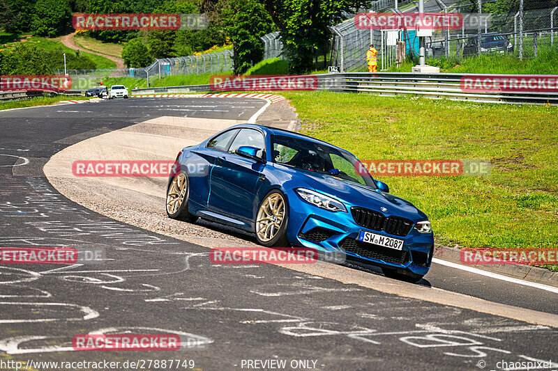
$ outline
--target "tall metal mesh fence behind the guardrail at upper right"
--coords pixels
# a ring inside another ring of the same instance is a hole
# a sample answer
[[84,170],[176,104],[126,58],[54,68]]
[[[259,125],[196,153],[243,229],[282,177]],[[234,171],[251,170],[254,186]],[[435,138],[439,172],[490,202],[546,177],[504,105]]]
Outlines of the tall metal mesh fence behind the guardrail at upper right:
[[[520,8],[523,1],[525,5]],[[418,3],[378,0],[368,11],[418,13]],[[558,1],[425,0],[424,12],[460,13],[463,19],[460,28],[432,30],[432,35],[425,38],[427,58],[461,60],[487,53],[536,58],[541,52],[558,47]],[[405,42],[400,50],[405,50],[406,57],[418,56],[419,38],[414,29],[360,29],[351,17],[332,27],[332,35],[328,64],[343,72],[366,70],[365,55],[370,43],[379,52],[378,70],[388,70],[396,63],[398,42]],[[265,35],[262,41],[266,58],[280,56],[278,33]]]

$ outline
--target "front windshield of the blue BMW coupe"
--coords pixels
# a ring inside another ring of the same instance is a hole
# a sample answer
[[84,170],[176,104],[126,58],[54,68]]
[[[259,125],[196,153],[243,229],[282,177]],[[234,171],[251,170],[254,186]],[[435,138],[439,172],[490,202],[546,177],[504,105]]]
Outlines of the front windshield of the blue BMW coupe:
[[271,136],[271,145],[273,162],[376,188],[368,173],[361,175],[356,171],[359,164],[356,157],[329,145],[281,135]]

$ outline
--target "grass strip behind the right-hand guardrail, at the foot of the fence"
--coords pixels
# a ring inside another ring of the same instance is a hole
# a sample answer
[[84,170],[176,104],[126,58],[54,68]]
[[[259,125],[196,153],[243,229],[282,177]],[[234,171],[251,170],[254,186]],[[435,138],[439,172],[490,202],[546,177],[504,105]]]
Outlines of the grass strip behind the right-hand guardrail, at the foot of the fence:
[[[451,73],[485,73],[485,74],[558,74],[558,51],[545,51],[538,53],[536,59],[520,60],[517,56],[502,54],[483,54],[463,58],[428,59],[428,65],[440,68],[440,72]],[[393,65],[390,72],[411,72],[416,65],[407,61],[400,68]]]

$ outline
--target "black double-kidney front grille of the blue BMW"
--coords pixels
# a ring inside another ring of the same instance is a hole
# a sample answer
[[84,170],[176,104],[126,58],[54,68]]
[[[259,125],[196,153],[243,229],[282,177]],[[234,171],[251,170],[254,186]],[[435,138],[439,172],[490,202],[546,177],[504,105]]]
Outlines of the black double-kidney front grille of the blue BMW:
[[386,217],[381,212],[377,212],[364,207],[352,207],[353,219],[359,226],[371,230],[383,230],[389,235],[405,237],[411,232],[413,222],[399,216]]

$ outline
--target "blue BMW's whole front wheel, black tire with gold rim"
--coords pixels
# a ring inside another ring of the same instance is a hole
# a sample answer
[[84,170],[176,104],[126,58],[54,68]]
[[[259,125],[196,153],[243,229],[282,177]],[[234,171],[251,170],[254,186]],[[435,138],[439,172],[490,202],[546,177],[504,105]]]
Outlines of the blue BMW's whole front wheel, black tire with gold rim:
[[287,222],[289,213],[285,195],[274,189],[262,199],[259,205],[255,232],[258,244],[267,247],[289,246]]

